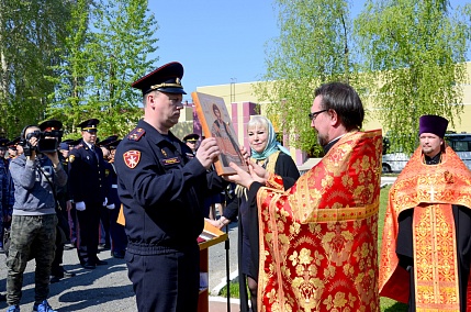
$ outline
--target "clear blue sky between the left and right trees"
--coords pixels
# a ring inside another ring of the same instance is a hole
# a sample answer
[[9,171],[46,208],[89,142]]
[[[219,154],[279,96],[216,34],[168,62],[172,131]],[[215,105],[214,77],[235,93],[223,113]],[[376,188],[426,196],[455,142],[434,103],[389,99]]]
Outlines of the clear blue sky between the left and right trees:
[[[365,0],[354,0],[351,12]],[[469,1],[451,0],[451,5]],[[197,87],[251,82],[265,74],[265,45],[278,36],[270,0],[149,0],[158,21],[158,66],[180,62],[184,67],[183,100]]]

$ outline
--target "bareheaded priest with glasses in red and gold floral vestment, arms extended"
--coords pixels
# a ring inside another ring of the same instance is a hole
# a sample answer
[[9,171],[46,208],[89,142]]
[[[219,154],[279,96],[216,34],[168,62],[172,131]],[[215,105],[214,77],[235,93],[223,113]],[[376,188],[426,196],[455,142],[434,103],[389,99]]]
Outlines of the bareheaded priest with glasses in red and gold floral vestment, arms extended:
[[259,220],[259,311],[379,311],[381,131],[348,85],[315,91],[311,125],[324,158],[289,189],[251,164],[228,179],[249,189]]

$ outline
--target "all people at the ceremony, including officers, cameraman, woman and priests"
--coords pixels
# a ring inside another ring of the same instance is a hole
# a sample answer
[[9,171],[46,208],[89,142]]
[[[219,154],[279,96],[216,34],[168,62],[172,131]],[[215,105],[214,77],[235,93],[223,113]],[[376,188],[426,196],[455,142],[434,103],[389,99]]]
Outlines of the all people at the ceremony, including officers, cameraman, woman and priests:
[[[420,145],[391,187],[379,253],[382,133],[362,130],[351,86],[315,89],[307,115],[325,155],[307,172],[300,176],[270,120],[254,116],[249,149],[237,152],[248,170],[228,163],[236,174],[218,176],[216,137],[170,131],[182,77],[182,65],[169,63],[132,85],[144,118],[123,140],[98,141],[97,119],[59,146],[49,146],[60,141],[56,120],[0,140],[8,311],[20,311],[33,258],[33,311],[54,311],[49,283],[71,276],[61,266],[66,243],[85,269],[106,265],[100,243],[124,258],[138,311],[197,311],[197,238],[205,220],[221,229],[235,219],[240,311],[380,311],[380,296],[410,311],[471,309],[471,172],[444,141],[446,119],[419,119]],[[210,214],[231,186],[234,200]]]

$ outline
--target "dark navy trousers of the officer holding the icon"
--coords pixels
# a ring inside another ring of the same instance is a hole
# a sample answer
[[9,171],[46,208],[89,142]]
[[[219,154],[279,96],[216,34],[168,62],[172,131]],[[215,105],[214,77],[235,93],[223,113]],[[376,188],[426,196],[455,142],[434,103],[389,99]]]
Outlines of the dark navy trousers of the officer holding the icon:
[[200,288],[198,245],[184,252],[159,255],[126,252],[127,275],[139,312],[194,312]]

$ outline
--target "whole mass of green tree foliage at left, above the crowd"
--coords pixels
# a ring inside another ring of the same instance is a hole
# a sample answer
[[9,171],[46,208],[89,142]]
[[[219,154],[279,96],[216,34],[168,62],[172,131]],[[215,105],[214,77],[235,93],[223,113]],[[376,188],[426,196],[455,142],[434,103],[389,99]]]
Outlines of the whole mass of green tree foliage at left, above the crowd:
[[157,29],[147,0],[0,0],[0,135],[52,118],[66,137],[90,118],[101,137],[127,133]]

